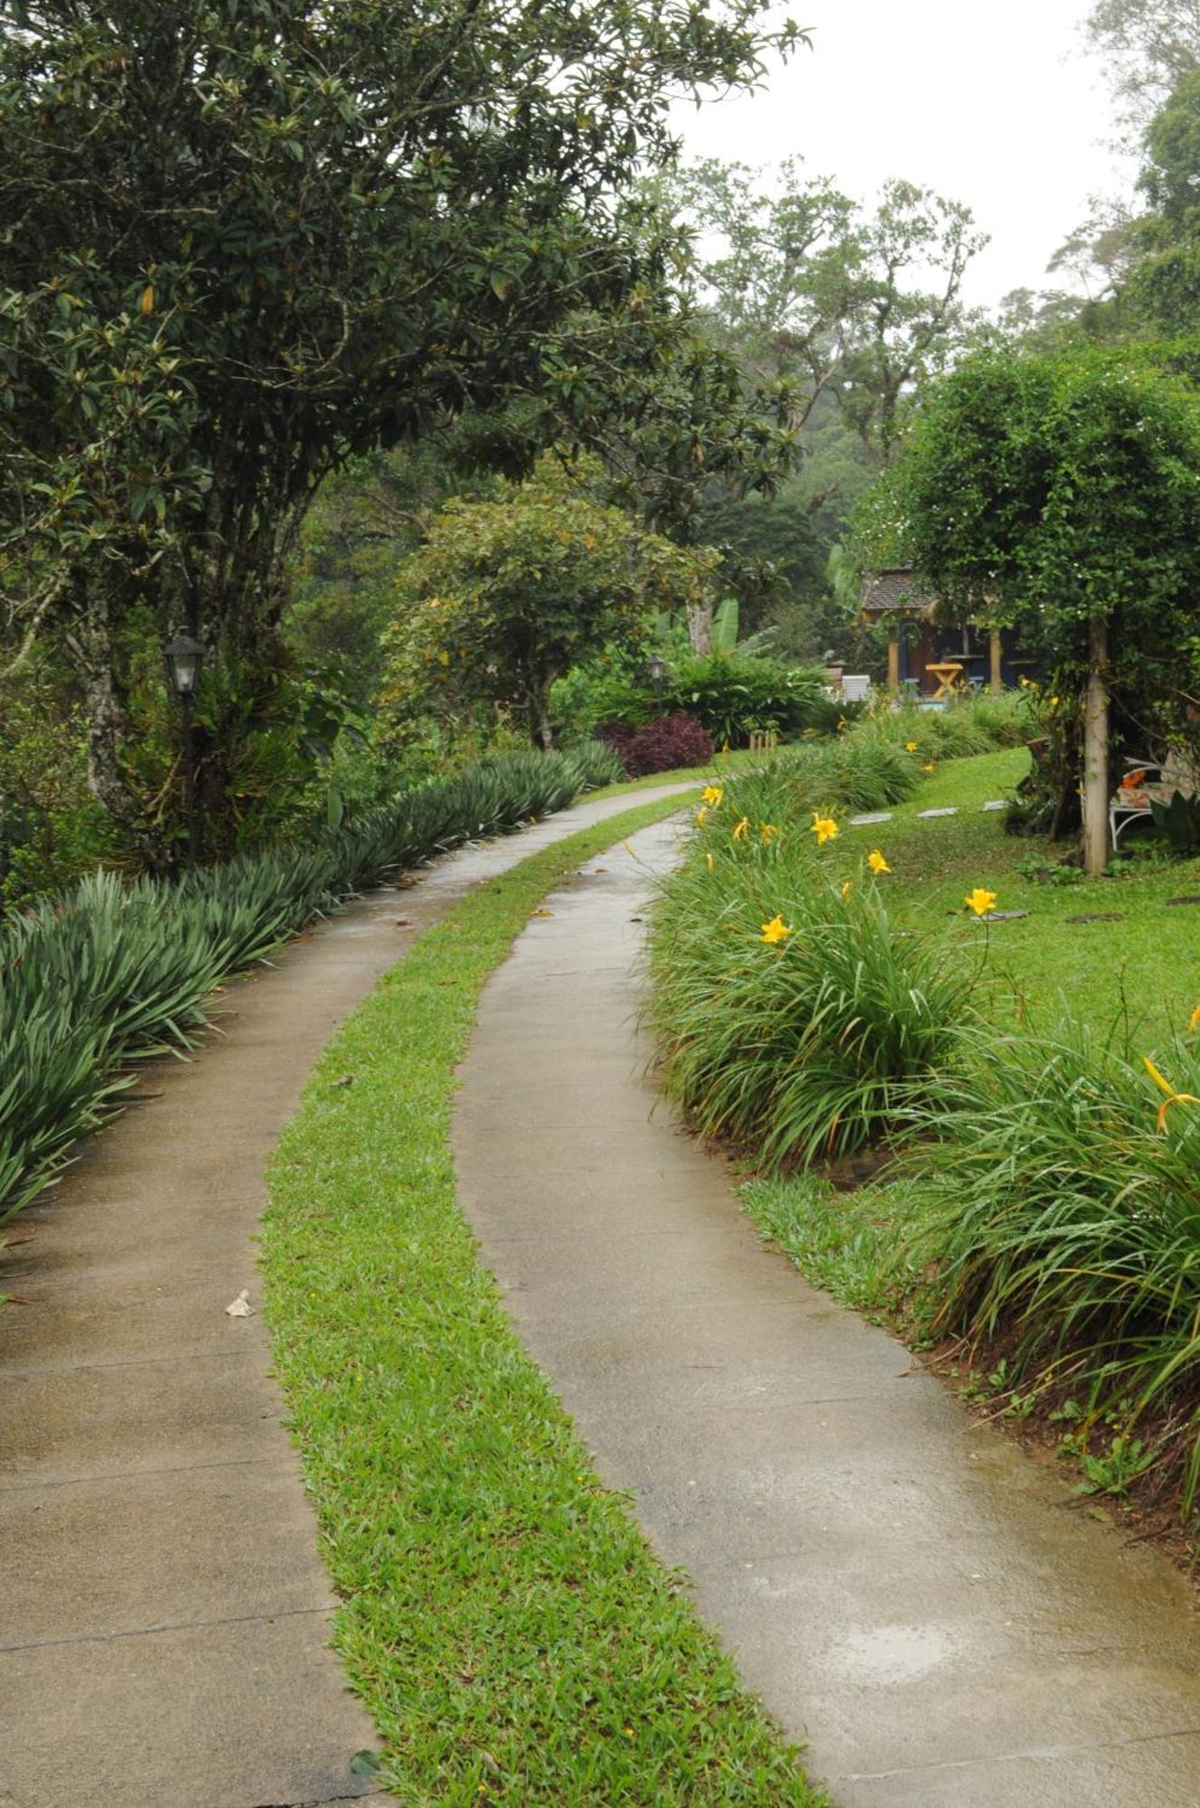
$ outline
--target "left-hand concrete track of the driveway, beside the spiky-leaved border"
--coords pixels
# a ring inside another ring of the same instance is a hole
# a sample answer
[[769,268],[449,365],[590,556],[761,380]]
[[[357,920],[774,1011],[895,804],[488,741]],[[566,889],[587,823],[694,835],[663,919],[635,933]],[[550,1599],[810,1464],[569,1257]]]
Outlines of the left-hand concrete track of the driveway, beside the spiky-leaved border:
[[[338,1023],[473,884],[658,796],[577,805],[376,891],[228,989],[195,1063],[14,1226],[0,1311],[0,1808],[374,1794],[257,1300],[262,1166]],[[390,1801],[390,1797],[387,1797]]]

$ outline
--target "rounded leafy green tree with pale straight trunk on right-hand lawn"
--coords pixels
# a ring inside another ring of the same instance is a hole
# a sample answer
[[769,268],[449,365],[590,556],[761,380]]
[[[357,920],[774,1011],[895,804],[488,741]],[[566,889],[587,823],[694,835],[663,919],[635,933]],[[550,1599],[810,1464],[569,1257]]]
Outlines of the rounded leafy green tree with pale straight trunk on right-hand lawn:
[[875,499],[875,539],[947,607],[1019,624],[1054,662],[1083,752],[1084,864],[1099,871],[1110,696],[1144,738],[1196,705],[1184,656],[1200,589],[1195,389],[1130,353],[969,358],[923,400]]

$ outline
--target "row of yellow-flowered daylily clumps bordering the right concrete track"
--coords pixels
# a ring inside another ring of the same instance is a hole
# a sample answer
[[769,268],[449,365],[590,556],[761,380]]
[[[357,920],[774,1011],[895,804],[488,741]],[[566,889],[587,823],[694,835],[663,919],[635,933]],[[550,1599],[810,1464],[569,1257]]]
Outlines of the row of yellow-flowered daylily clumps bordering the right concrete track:
[[889,1154],[884,1264],[913,1334],[999,1345],[1045,1414],[1083,1403],[1195,1513],[1200,1005],[1180,1003],[1153,1059],[1068,1014],[1012,1032],[974,1018],[963,975],[985,937],[969,955],[898,924],[880,850],[831,861],[837,815],[904,797],[925,752],[900,745],[905,774],[895,736],[853,730],[710,786],[654,913],[667,1090],[759,1173]]

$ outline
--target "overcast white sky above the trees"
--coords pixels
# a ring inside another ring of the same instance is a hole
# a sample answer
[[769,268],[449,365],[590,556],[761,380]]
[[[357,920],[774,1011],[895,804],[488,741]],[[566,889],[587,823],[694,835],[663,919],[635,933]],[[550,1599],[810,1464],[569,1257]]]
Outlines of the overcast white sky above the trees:
[[902,175],[967,202],[990,233],[965,300],[1054,286],[1046,262],[1086,197],[1130,179],[1097,143],[1111,108],[1083,54],[1086,0],[795,0],[788,11],[813,27],[813,51],[773,69],[766,90],[680,108],[685,154],[801,155],[855,199]]

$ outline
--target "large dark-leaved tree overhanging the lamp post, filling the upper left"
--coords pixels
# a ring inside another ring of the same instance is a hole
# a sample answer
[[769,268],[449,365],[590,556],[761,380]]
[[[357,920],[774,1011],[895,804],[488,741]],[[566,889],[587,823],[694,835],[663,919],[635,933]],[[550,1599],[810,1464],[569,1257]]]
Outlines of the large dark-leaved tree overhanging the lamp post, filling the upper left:
[[[670,157],[672,94],[757,74],[761,11],[0,0],[5,633],[69,649],[130,830],[130,633],[267,669],[286,555],[347,456],[530,392],[627,441],[667,391],[683,486],[730,391],[618,193]],[[197,729],[208,808],[230,723]]]

